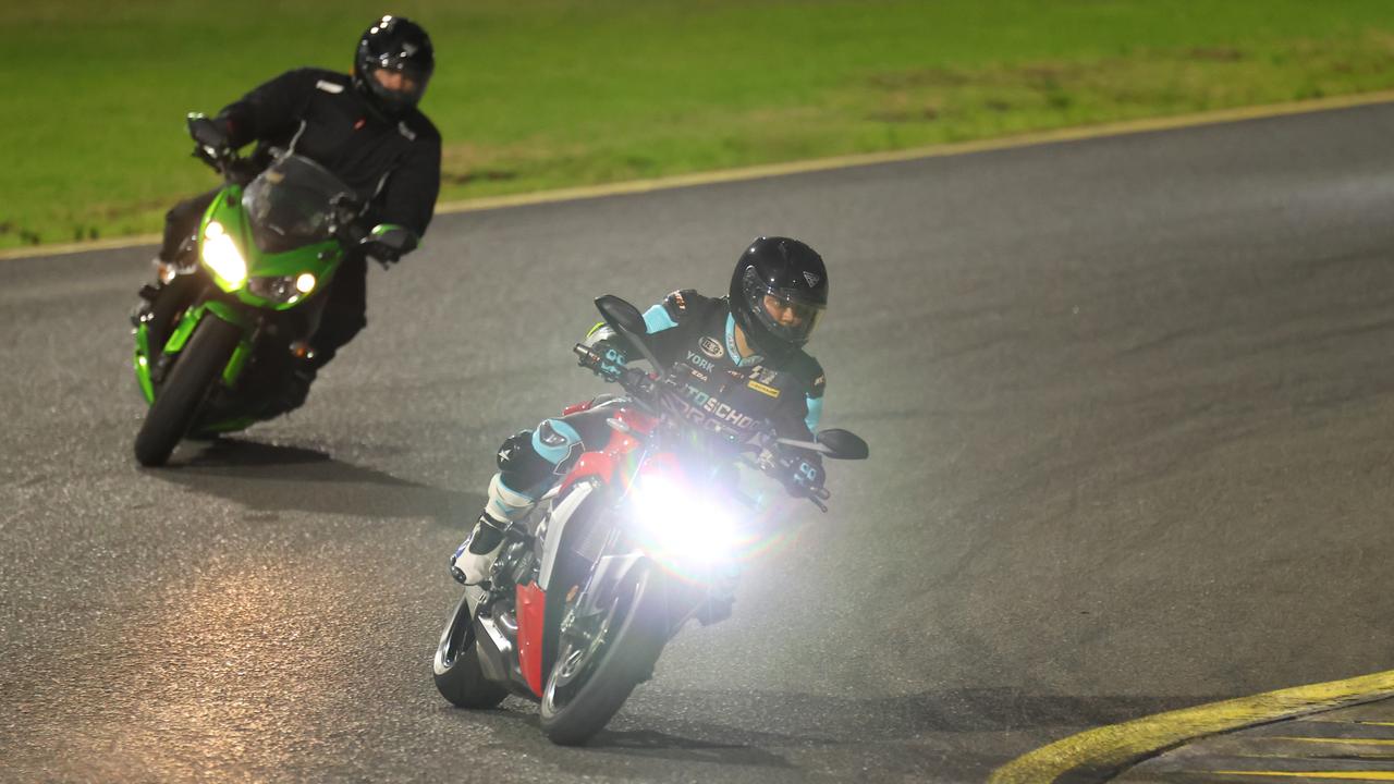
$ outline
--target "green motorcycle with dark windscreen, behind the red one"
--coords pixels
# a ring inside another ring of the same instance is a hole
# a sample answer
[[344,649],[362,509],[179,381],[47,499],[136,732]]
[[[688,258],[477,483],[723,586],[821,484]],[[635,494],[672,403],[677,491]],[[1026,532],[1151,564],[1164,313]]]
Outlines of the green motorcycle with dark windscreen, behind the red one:
[[188,264],[141,289],[132,317],[135,378],[149,403],[135,437],[144,466],[164,465],[185,435],[215,437],[287,410],[296,363],[312,357],[321,293],[346,255],[395,259],[414,246],[406,227],[361,227],[360,197],[314,160],[272,151],[252,174],[206,128],[190,116],[194,155],[226,184],[185,243]]

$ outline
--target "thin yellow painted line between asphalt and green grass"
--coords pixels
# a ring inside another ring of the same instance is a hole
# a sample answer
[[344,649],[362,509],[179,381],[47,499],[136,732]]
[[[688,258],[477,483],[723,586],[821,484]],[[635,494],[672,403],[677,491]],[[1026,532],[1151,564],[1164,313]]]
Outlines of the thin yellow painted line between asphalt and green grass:
[[[1147,131],[1165,131],[1175,128],[1190,128],[1196,126],[1214,126],[1220,123],[1238,123],[1242,120],[1260,120],[1264,117],[1281,117],[1285,114],[1330,112],[1333,109],[1352,109],[1356,106],[1372,106],[1376,103],[1394,103],[1394,91],[1366,92],[1361,95],[1345,95],[1337,98],[1319,98],[1313,100],[1294,100],[1288,103],[1270,103],[1266,106],[1241,106],[1238,109],[1218,109],[1214,112],[1202,112],[1199,114],[1179,114],[1175,117],[1150,117],[1146,120],[1125,120],[1121,123],[1103,123],[1097,126],[1057,128],[1051,131],[1036,131],[1036,133],[1001,137],[994,140],[940,144],[934,146],[917,146],[910,149],[898,149],[888,152],[867,152],[861,155],[839,155],[835,158],[818,158],[814,160],[792,160],[788,163],[747,166],[744,169],[721,169],[717,172],[697,172],[693,174],[676,174],[672,177],[658,177],[652,180],[630,180],[626,183],[609,183],[604,186],[583,186],[576,188],[558,188],[552,191],[471,198],[466,201],[450,201],[445,204],[438,204],[435,213],[452,215],[459,212],[482,212],[485,209],[503,209],[509,206],[527,206],[534,204],[552,204],[559,201],[576,201],[584,198],[599,198],[599,197],[623,195],[623,194],[644,194],[651,191],[686,188],[693,186],[736,183],[742,180],[758,180],[764,177],[782,177],[785,174],[803,174],[806,172],[825,172],[829,169],[870,166],[874,163],[899,163],[905,160],[919,160],[924,158],[945,158],[951,155],[967,155],[973,152],[990,152],[995,149],[1013,149],[1020,146],[1057,144],[1064,141],[1082,141],[1082,140],[1092,140],[1101,137],[1142,134]],[[67,243],[59,246],[35,246],[28,248],[6,248],[0,250],[0,261],[10,258],[36,258],[47,255],[63,255],[63,254],[95,251],[95,250],[128,248],[137,246],[155,244],[158,241],[159,236],[156,234],[141,234],[138,237],[95,240],[91,243]]]

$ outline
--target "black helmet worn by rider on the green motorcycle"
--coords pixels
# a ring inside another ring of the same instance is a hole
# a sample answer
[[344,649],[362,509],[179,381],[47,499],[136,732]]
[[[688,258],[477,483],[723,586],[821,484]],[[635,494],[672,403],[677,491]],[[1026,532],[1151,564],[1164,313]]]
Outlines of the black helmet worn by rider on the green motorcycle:
[[[396,71],[403,89],[392,89],[374,75],[376,70]],[[421,100],[435,70],[431,36],[406,17],[382,17],[358,39],[353,59],[353,84],[379,112],[397,117]]]

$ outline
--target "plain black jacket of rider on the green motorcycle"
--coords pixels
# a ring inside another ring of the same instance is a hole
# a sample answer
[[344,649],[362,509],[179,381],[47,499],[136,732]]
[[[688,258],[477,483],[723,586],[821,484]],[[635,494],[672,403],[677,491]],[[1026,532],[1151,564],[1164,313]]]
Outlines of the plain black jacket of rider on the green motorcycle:
[[400,223],[425,234],[441,190],[441,134],[421,112],[381,114],[353,77],[322,68],[287,71],[219,113],[234,148],[261,142],[293,149],[329,169],[367,199],[368,225]]

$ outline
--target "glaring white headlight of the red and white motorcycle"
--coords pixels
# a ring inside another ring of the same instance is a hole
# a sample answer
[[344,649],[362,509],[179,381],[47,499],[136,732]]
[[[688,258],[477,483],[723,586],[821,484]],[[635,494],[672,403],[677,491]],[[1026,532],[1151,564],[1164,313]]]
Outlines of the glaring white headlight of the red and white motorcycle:
[[661,554],[714,564],[735,558],[743,544],[740,527],[726,508],[668,477],[644,476],[633,499],[644,544]]

